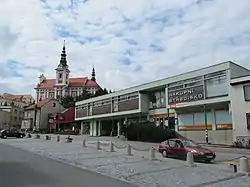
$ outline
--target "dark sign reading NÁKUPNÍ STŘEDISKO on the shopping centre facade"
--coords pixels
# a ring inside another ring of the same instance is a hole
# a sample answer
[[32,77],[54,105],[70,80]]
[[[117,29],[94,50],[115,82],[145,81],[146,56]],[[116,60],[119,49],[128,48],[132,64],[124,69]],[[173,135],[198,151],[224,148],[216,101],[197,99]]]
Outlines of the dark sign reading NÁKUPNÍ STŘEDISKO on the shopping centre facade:
[[203,86],[168,92],[168,104],[192,102],[204,99]]

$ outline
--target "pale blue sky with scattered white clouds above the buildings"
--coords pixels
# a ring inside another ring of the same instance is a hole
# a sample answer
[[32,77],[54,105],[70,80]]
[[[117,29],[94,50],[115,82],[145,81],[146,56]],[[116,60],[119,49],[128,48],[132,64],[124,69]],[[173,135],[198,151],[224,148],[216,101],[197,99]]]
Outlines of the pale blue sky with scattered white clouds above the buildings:
[[0,0],[0,93],[70,77],[119,90],[234,61],[250,68],[249,0]]

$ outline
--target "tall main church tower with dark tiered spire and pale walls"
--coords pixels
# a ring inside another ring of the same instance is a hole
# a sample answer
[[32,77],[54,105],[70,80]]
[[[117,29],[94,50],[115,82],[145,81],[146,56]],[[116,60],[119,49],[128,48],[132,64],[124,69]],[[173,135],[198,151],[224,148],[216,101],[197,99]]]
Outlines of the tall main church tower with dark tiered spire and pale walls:
[[63,49],[61,53],[61,60],[58,64],[56,70],[56,93],[55,96],[64,96],[66,92],[66,87],[69,84],[69,66],[67,64],[67,54],[66,54],[66,47],[65,47],[65,40],[63,44]]

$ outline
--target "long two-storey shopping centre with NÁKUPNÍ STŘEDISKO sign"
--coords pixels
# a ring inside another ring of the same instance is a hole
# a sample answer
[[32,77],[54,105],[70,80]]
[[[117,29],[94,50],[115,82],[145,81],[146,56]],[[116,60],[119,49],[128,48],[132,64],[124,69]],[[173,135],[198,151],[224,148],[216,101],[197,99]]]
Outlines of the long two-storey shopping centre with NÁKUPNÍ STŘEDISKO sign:
[[235,94],[237,88],[230,84],[248,75],[248,69],[223,62],[77,102],[76,120],[81,129],[89,126],[91,136],[101,135],[110,126],[117,126],[119,132],[120,124],[148,120],[197,142],[232,144],[239,133],[237,126],[247,126],[247,106],[240,110],[235,104],[244,96],[240,89]]

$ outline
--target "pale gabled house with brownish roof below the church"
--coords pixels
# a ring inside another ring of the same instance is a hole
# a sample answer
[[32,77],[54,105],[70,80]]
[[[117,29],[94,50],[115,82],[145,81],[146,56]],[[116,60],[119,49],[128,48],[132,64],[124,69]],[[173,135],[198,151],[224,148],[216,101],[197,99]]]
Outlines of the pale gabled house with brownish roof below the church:
[[25,108],[24,119],[22,120],[22,129],[39,129],[47,131],[49,126],[49,114],[60,113],[65,109],[60,102],[54,98],[47,98],[38,101],[31,106]]

